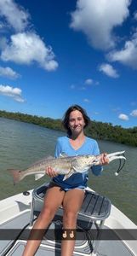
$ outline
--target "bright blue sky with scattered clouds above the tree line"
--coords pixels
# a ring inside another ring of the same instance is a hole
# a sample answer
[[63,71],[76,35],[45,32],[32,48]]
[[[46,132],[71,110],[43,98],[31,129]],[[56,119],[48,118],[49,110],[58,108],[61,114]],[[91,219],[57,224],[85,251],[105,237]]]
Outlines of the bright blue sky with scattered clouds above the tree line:
[[0,0],[0,109],[137,125],[137,4]]

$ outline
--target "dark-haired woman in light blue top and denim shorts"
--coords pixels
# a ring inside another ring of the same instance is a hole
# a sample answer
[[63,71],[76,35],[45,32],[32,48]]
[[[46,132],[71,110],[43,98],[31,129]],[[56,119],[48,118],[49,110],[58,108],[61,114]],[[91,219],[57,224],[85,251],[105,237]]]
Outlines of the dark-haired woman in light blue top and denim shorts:
[[[63,125],[66,128],[67,136],[59,137],[55,157],[64,153],[69,156],[82,154],[100,154],[97,142],[94,139],[86,137],[84,128],[88,125],[90,119],[83,108],[73,105],[67,109],[63,119]],[[100,165],[108,163],[106,154],[101,154]],[[102,170],[101,166],[92,167],[92,172],[99,175]],[[70,230],[77,227],[77,212],[83,204],[84,189],[87,186],[88,172],[75,173],[63,181],[64,175],[57,175],[49,166],[46,170],[49,177],[52,177],[49,189],[45,195],[42,212],[40,212],[36,223],[31,230],[31,235],[26,243],[23,256],[33,256],[37,252],[41,240],[43,239],[44,230],[49,226],[54,218],[54,214],[60,205],[63,205],[63,235],[68,234]],[[35,229],[35,232],[33,231]],[[36,231],[37,230],[37,231]],[[42,231],[43,230],[43,231]],[[75,246],[75,239],[61,242],[61,256],[71,256]]]

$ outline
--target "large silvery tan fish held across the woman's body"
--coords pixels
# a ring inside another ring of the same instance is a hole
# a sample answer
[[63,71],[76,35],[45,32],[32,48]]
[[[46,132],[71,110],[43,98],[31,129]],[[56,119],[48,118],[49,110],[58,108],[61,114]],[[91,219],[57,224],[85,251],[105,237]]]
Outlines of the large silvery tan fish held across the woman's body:
[[[111,160],[115,159],[125,159],[125,157],[122,155],[124,151],[122,152],[116,152],[112,154],[107,154],[107,158],[109,162]],[[22,180],[24,177],[28,175],[35,175],[36,179],[42,177],[46,174],[46,167],[50,166],[54,169],[54,172],[57,172],[58,174],[65,175],[64,180],[66,178],[71,177],[73,173],[77,172],[87,172],[88,169],[92,166],[100,165],[100,155],[77,155],[77,156],[66,156],[66,155],[60,155],[59,158],[45,158],[43,160],[39,160],[33,165],[26,168],[26,170],[10,170],[12,172],[12,175],[14,177],[14,184],[18,183],[20,180]]]

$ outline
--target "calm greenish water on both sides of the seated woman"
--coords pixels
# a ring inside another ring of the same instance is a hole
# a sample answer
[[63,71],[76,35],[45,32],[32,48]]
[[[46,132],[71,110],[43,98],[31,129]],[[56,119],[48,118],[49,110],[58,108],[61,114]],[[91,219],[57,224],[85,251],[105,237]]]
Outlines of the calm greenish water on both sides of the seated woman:
[[[33,189],[49,181],[43,177],[37,182],[33,176],[13,185],[8,168],[23,169],[46,155],[54,155],[57,137],[64,135],[37,125],[0,118],[0,199]],[[98,141],[100,152],[126,150],[127,161],[119,176],[115,176],[118,162],[104,167],[100,177],[89,174],[88,185],[106,195],[122,212],[137,224],[137,148],[117,143]]]

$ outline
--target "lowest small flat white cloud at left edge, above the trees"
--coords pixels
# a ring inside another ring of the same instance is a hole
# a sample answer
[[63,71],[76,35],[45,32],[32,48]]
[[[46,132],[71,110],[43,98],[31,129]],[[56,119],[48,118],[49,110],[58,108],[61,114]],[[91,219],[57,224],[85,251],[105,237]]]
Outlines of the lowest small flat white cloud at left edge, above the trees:
[[0,84],[0,94],[12,97],[16,102],[25,102],[21,96],[21,93],[22,90],[20,88]]

